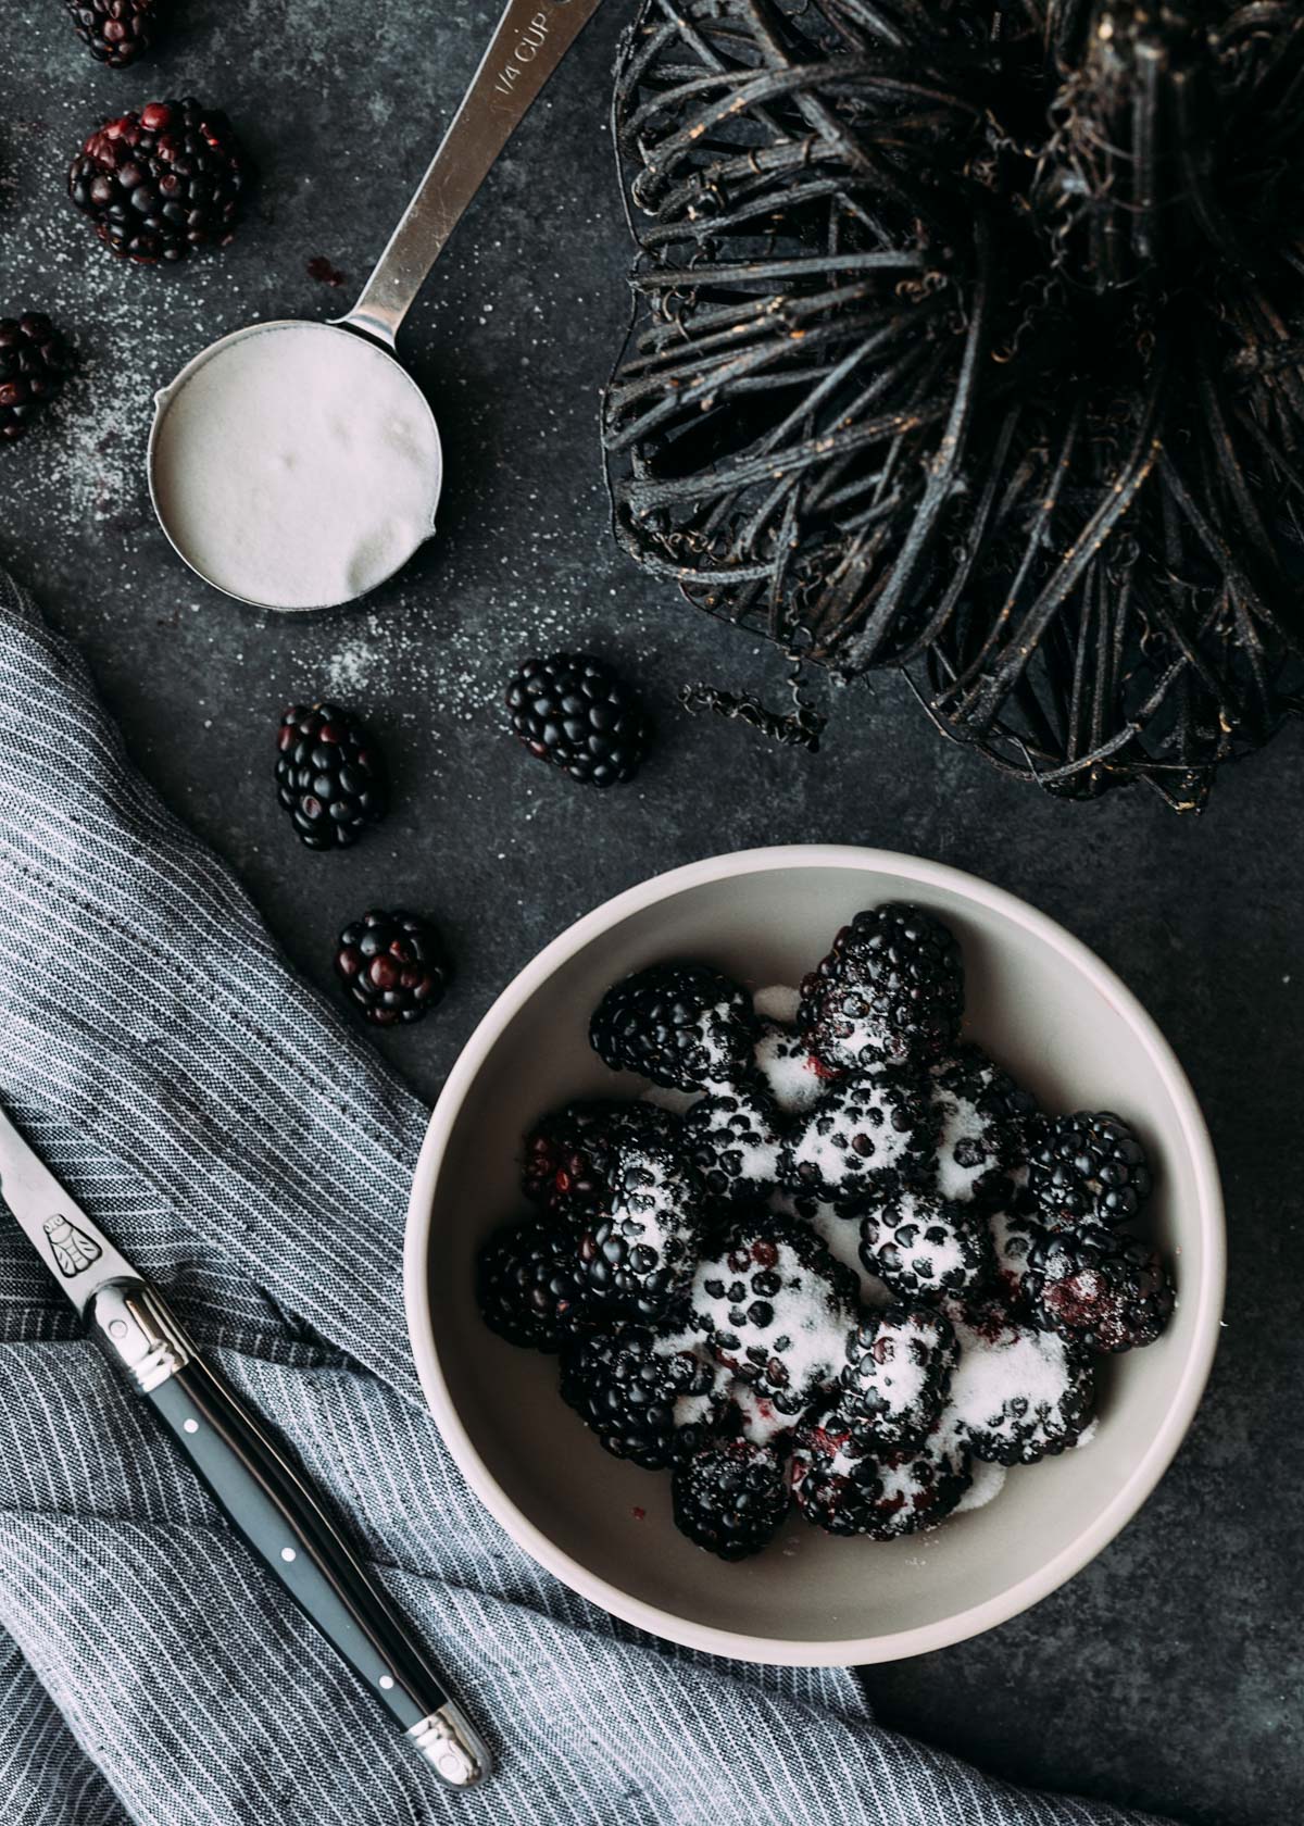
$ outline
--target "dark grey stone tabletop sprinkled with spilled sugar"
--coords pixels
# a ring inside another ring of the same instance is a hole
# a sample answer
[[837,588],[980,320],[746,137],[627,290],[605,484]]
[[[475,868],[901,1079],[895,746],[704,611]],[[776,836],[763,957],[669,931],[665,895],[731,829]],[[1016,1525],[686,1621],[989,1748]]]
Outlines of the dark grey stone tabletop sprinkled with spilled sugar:
[[[0,314],[44,307],[86,371],[55,425],[0,451],[0,557],[86,648],[141,767],[234,862],[303,970],[331,984],[345,917],[429,908],[460,981],[385,1052],[429,1097],[489,999],[568,920],[657,869],[789,840],[884,844],[1026,895],[1094,946],[1163,1024],[1222,1154],[1227,1329],[1213,1386],[1143,1514],[1067,1589],[977,1642],[873,1669],[884,1720],[1014,1779],[1207,1826],[1304,1817],[1299,1191],[1304,995],[1300,734],[1180,822],[1149,796],[1098,807],[997,780],[924,725],[904,687],[840,694],[816,760],[689,721],[696,676],[778,665],[685,610],[612,548],[597,389],[625,320],[625,228],[605,126],[610,0],[491,175],[407,325],[449,451],[442,535],[352,614],[267,623],[197,584],[150,515],[150,393],[208,338],[325,316],[358,285],[480,55],[489,0],[342,7],[181,4],[137,71],[97,69],[53,0],[9,20],[0,88]],[[378,24],[384,20],[384,24]],[[265,170],[254,219],[181,272],[111,261],[62,199],[100,115],[199,91]],[[584,794],[500,732],[528,648],[588,645],[650,681],[665,740],[637,787]],[[318,858],[268,785],[283,699],[365,707],[398,803]]]

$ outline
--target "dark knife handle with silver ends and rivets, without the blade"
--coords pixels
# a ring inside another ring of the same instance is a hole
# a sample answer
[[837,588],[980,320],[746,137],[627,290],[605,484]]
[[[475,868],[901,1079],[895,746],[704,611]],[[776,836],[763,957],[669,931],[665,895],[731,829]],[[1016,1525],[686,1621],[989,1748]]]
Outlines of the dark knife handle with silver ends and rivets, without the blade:
[[436,1773],[471,1788],[491,1758],[287,1448],[199,1353],[155,1287],[110,1282],[89,1317],[177,1444],[310,1623]]

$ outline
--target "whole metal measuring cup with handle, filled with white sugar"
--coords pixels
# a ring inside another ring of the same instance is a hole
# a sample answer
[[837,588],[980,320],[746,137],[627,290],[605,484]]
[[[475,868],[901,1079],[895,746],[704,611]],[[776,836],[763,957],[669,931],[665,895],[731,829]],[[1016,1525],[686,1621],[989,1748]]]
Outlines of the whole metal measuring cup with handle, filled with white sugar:
[[252,323],[157,394],[150,498],[205,582],[258,608],[338,608],[435,531],[435,413],[394,356],[426,276],[601,0],[508,0],[362,298],[332,323]]

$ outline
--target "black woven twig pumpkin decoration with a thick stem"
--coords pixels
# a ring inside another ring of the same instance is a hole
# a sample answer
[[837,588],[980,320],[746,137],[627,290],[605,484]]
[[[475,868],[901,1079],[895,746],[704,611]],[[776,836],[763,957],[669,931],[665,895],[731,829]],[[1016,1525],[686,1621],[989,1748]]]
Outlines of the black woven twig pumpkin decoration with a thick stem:
[[1304,11],[1200,16],[643,0],[605,402],[694,604],[1180,809],[1304,670]]

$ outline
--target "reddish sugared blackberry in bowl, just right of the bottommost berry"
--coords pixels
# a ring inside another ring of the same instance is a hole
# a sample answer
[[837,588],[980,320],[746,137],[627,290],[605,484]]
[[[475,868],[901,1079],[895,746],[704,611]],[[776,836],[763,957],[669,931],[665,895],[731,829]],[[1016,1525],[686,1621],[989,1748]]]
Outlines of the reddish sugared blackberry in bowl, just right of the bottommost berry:
[[946,1424],[902,1452],[871,1453],[833,1408],[798,1428],[793,1450],[796,1505],[827,1534],[897,1541],[935,1528],[972,1481],[968,1448]]

